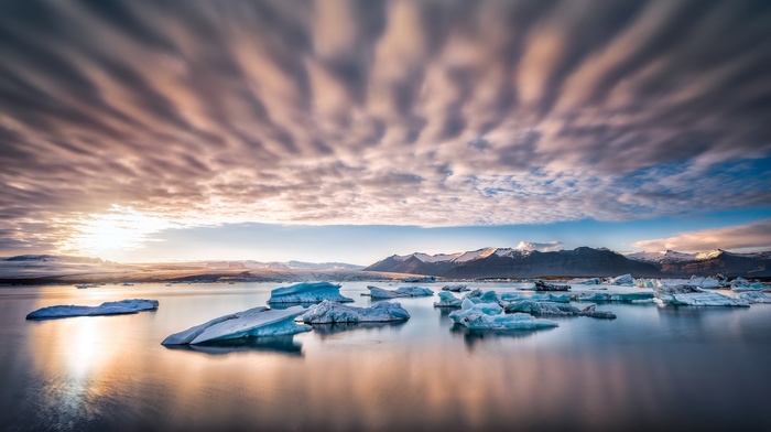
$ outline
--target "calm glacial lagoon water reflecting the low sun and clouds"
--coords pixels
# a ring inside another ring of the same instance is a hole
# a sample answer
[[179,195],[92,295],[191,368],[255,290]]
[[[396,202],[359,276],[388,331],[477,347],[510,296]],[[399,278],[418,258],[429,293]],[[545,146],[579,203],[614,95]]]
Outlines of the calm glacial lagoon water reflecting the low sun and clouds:
[[[343,283],[356,305],[368,283]],[[376,283],[382,288],[387,283]],[[326,325],[250,345],[167,335],[264,305],[280,283],[0,288],[0,430],[771,430],[771,305],[608,304],[615,321],[454,328],[437,298],[403,324]],[[441,284],[424,284],[438,290]],[[514,283],[473,283],[513,292]],[[155,312],[29,322],[54,304]]]

